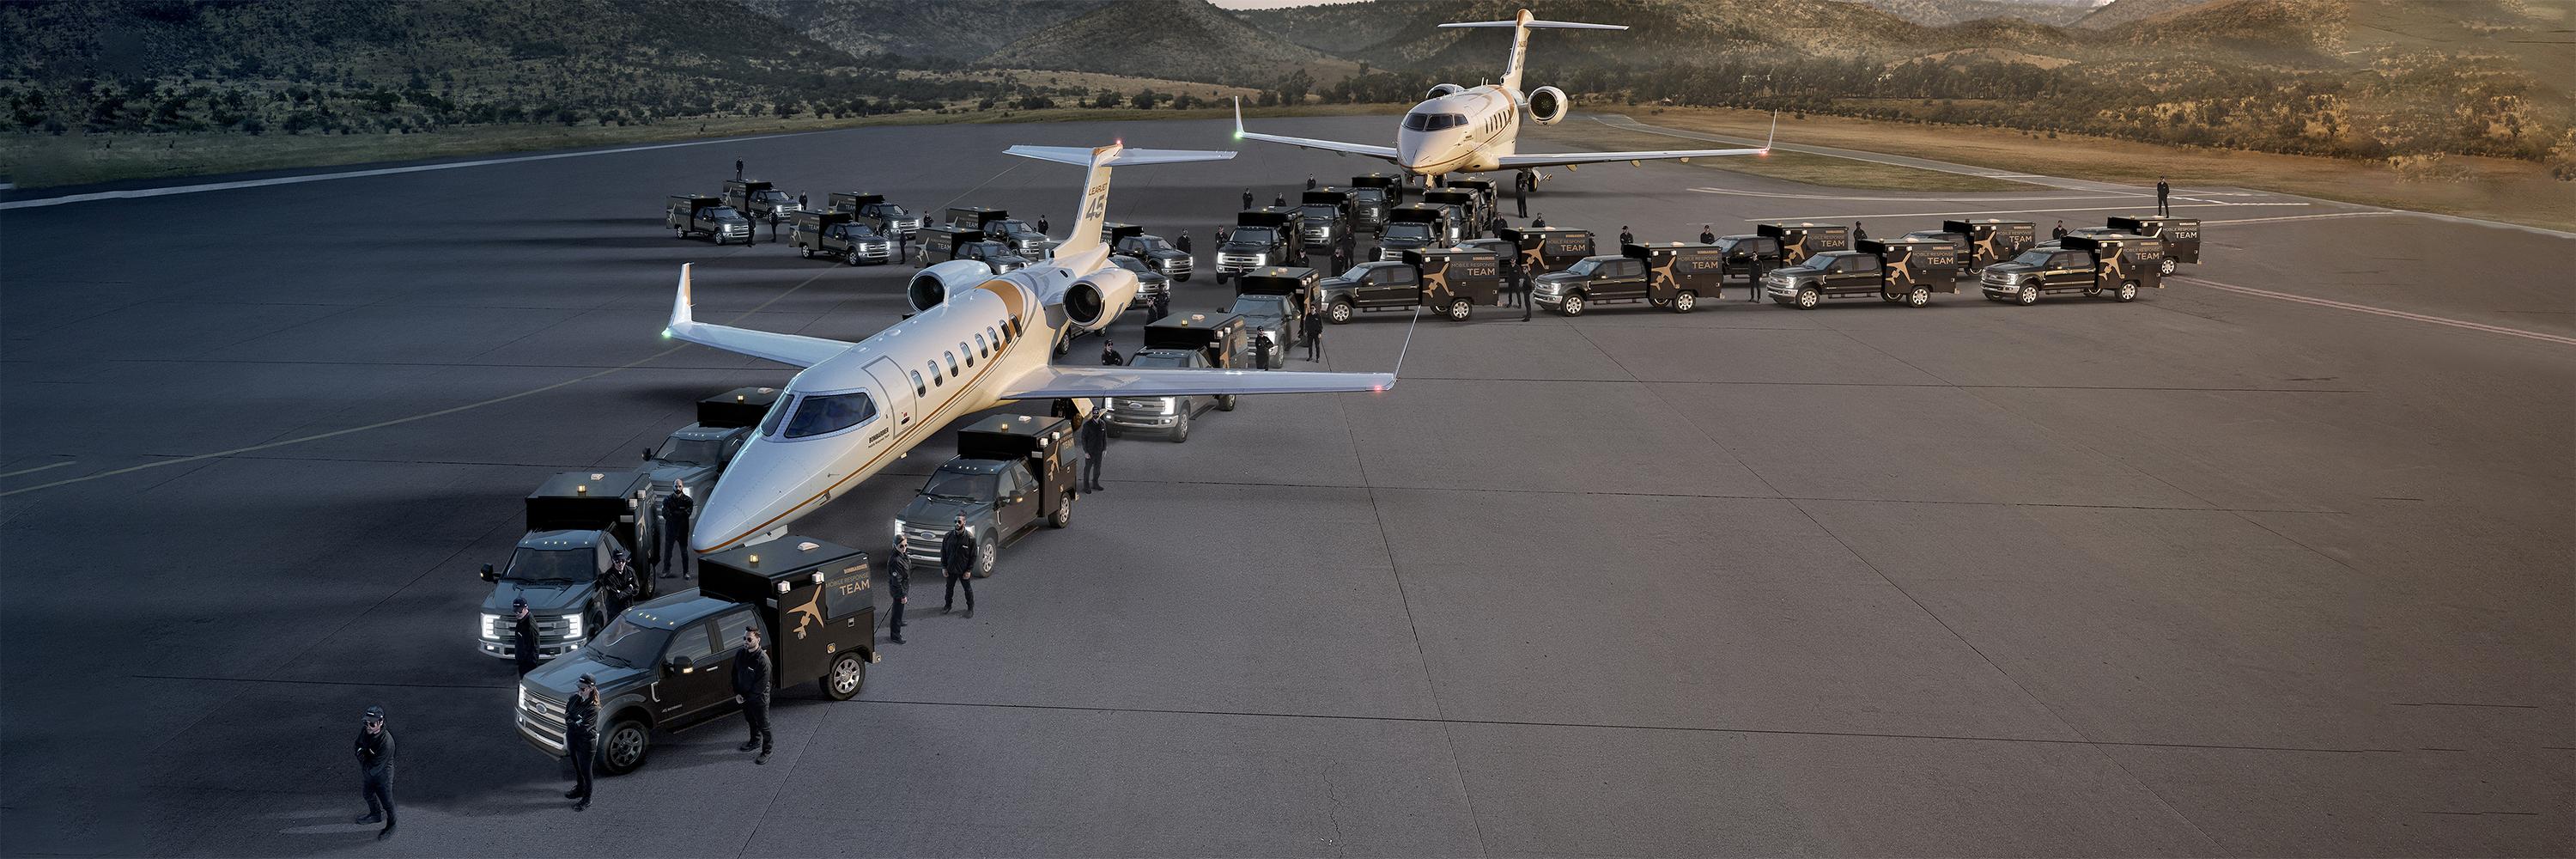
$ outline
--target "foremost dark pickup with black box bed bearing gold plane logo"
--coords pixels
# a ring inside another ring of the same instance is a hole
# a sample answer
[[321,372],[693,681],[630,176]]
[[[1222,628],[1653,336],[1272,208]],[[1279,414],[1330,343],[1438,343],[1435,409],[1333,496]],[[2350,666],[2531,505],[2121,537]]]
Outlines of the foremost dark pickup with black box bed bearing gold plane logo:
[[876,663],[876,591],[868,555],[811,537],[732,547],[698,557],[698,588],[636,604],[598,640],[518,678],[520,740],[567,756],[564,704],[587,673],[600,689],[598,766],[644,766],[654,733],[675,733],[742,709],[734,663],[742,629],[760,627],[770,684],[814,678],[848,702]]

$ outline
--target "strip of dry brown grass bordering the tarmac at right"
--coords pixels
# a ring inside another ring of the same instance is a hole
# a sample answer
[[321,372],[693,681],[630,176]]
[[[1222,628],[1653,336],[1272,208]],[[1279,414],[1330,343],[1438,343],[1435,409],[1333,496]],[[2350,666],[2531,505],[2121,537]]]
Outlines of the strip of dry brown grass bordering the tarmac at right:
[[[1625,108],[1643,124],[1762,139],[1767,111],[1728,108]],[[1667,144],[1672,137],[1662,137]],[[2383,163],[2272,155],[2239,150],[2187,150],[2099,137],[2032,137],[2030,132],[1976,126],[1917,126],[1842,116],[1780,116],[1780,142],[1896,152],[1978,168],[2154,186],[2262,188],[2370,206],[2478,217],[2548,230],[2576,230],[2576,183],[2548,168],[2501,157],[2447,157],[2450,178],[2409,178]]]

